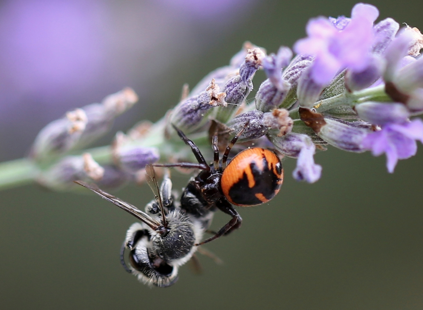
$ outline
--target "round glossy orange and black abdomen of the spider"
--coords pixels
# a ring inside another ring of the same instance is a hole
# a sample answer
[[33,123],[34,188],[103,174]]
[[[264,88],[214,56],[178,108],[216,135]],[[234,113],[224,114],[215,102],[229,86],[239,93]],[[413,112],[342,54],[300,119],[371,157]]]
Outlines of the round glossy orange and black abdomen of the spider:
[[275,197],[282,186],[280,159],[264,148],[248,148],[223,170],[221,188],[236,206],[256,206]]

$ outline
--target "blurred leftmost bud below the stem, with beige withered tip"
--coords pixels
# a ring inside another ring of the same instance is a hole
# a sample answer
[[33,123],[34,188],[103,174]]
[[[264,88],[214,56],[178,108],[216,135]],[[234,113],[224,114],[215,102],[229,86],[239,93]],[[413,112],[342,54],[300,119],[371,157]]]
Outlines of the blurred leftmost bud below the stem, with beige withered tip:
[[68,190],[73,187],[73,181],[99,181],[104,176],[104,167],[94,161],[91,154],[82,156],[66,156],[43,171],[37,182],[55,190]]

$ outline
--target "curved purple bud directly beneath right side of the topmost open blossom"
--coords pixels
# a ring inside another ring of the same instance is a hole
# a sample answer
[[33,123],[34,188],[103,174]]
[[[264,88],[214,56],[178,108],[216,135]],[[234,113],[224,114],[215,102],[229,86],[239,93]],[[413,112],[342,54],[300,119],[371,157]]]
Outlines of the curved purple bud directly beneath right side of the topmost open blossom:
[[346,88],[352,91],[360,91],[376,82],[385,70],[385,61],[378,56],[371,56],[371,61],[363,70],[357,72],[347,70],[345,74]]

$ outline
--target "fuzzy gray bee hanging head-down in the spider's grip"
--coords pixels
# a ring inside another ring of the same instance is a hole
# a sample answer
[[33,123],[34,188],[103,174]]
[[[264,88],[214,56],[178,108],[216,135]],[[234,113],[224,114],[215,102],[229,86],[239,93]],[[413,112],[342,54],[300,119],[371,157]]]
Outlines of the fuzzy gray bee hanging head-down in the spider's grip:
[[[178,269],[192,258],[209,228],[212,209],[204,209],[201,216],[181,209],[172,194],[172,181],[166,175],[159,187],[154,169],[147,166],[147,182],[155,200],[146,205],[145,212],[102,191],[95,185],[75,181],[97,195],[129,212],[141,222],[132,224],[126,232],[121,248],[121,263],[127,272],[148,285],[170,286],[178,280]],[[129,250],[129,264],[125,262]]]

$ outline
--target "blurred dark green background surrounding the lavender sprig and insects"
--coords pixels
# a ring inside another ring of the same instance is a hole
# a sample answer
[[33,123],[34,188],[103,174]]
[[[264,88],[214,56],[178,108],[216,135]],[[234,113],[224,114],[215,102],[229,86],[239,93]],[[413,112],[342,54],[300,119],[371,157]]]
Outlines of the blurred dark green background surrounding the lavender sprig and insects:
[[[372,4],[379,8],[381,19],[393,17],[423,28],[421,0]],[[118,6],[119,1],[107,5]],[[209,71],[228,63],[244,41],[268,52],[280,45],[291,47],[305,36],[309,18],[349,16],[354,2],[245,5],[242,14],[233,13],[236,18],[229,22],[190,20],[187,29],[197,33],[195,48],[179,47],[160,74],[127,82],[141,100],[118,119],[114,131],[126,130],[141,119],[159,119],[176,104],[184,82],[194,86]],[[148,59],[140,58],[134,71],[143,71],[145,62]],[[256,89],[263,78],[259,73],[253,81]],[[101,90],[96,97],[90,95],[93,99],[78,97],[81,102],[74,106],[98,101],[118,89]],[[66,109],[61,107],[47,121]],[[21,157],[29,149],[47,123],[33,118],[33,123],[21,120],[20,131],[9,131],[7,137],[3,131],[2,159]],[[112,134],[102,143],[111,139]],[[135,222],[121,209],[96,196],[49,192],[35,185],[0,192],[0,308],[422,309],[421,145],[418,154],[400,161],[392,175],[386,171],[384,156],[330,147],[315,159],[323,166],[321,180],[312,185],[294,181],[295,161],[287,159],[279,195],[264,206],[239,208],[242,228],[207,245],[224,264],[200,255],[203,273],[194,274],[187,264],[170,288],[148,288],[121,267],[121,242]],[[187,176],[173,173],[173,183],[180,189]],[[152,199],[146,185],[129,186],[116,195],[140,207]],[[217,212],[212,227],[227,220]]]

